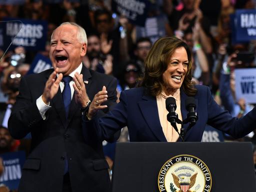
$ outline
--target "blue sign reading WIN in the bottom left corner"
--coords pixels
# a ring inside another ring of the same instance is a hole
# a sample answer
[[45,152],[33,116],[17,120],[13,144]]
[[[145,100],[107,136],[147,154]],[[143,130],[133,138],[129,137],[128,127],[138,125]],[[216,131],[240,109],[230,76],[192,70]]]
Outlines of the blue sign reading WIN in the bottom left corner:
[[3,159],[4,171],[0,176],[0,183],[17,189],[21,177],[21,169],[25,161],[25,151],[7,152],[0,154]]

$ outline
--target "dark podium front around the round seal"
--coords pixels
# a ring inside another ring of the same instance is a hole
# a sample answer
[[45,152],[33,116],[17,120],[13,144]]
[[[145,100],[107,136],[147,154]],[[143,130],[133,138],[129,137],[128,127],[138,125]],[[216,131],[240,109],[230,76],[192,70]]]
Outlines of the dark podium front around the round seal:
[[112,192],[159,191],[159,170],[180,154],[195,156],[207,165],[212,192],[256,191],[250,142],[120,142],[116,144]]

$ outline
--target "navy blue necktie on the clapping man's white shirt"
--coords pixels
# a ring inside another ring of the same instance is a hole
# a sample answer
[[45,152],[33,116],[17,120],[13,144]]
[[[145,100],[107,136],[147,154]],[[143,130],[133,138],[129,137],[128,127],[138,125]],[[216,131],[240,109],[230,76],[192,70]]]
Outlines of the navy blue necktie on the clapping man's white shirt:
[[64,82],[64,89],[62,91],[62,99],[63,99],[63,103],[64,103],[64,107],[65,107],[65,112],[66,112],[66,118],[68,115],[68,111],[69,111],[69,105],[71,102],[71,89],[69,86],[69,82],[72,80],[71,76],[64,76],[62,78],[62,81]]

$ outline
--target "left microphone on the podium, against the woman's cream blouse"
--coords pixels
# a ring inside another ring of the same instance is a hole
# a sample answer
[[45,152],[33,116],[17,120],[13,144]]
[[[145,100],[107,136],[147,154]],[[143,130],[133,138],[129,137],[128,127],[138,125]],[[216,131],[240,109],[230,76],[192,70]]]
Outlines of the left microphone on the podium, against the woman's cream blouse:
[[[178,115],[175,112],[177,105],[176,105],[176,100],[173,97],[167,97],[165,100],[165,107],[169,113],[167,114],[167,120],[170,122],[171,126],[177,131],[178,135],[180,136],[178,132],[178,128],[176,125],[176,122],[181,124],[182,121],[178,119]],[[181,140],[183,141],[183,137],[180,136]]]

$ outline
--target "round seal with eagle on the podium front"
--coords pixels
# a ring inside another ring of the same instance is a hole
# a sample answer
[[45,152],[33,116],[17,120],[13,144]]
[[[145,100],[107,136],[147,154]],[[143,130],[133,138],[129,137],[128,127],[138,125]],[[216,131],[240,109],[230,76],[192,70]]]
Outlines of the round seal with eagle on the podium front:
[[158,174],[159,191],[209,192],[211,174],[199,158],[181,154],[167,160]]

